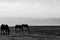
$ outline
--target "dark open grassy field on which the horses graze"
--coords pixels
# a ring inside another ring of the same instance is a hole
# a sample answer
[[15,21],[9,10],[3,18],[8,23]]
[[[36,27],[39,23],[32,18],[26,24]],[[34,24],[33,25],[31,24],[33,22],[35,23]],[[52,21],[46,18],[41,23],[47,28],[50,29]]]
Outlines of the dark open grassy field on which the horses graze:
[[29,32],[10,30],[10,35],[0,32],[0,40],[60,40],[60,26],[30,26]]

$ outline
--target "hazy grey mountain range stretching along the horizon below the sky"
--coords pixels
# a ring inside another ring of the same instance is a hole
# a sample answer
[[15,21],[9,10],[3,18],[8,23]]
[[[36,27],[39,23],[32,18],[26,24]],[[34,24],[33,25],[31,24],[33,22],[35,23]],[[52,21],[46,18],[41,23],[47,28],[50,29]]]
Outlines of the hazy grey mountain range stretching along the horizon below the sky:
[[0,24],[30,24],[30,25],[44,25],[44,24],[60,24],[60,18],[0,18]]

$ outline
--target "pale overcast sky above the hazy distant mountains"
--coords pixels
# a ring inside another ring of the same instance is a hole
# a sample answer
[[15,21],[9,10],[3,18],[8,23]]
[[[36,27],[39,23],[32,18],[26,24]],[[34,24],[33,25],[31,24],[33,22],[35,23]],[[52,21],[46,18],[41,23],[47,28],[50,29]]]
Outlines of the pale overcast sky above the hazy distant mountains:
[[60,18],[60,0],[0,0],[0,17]]

